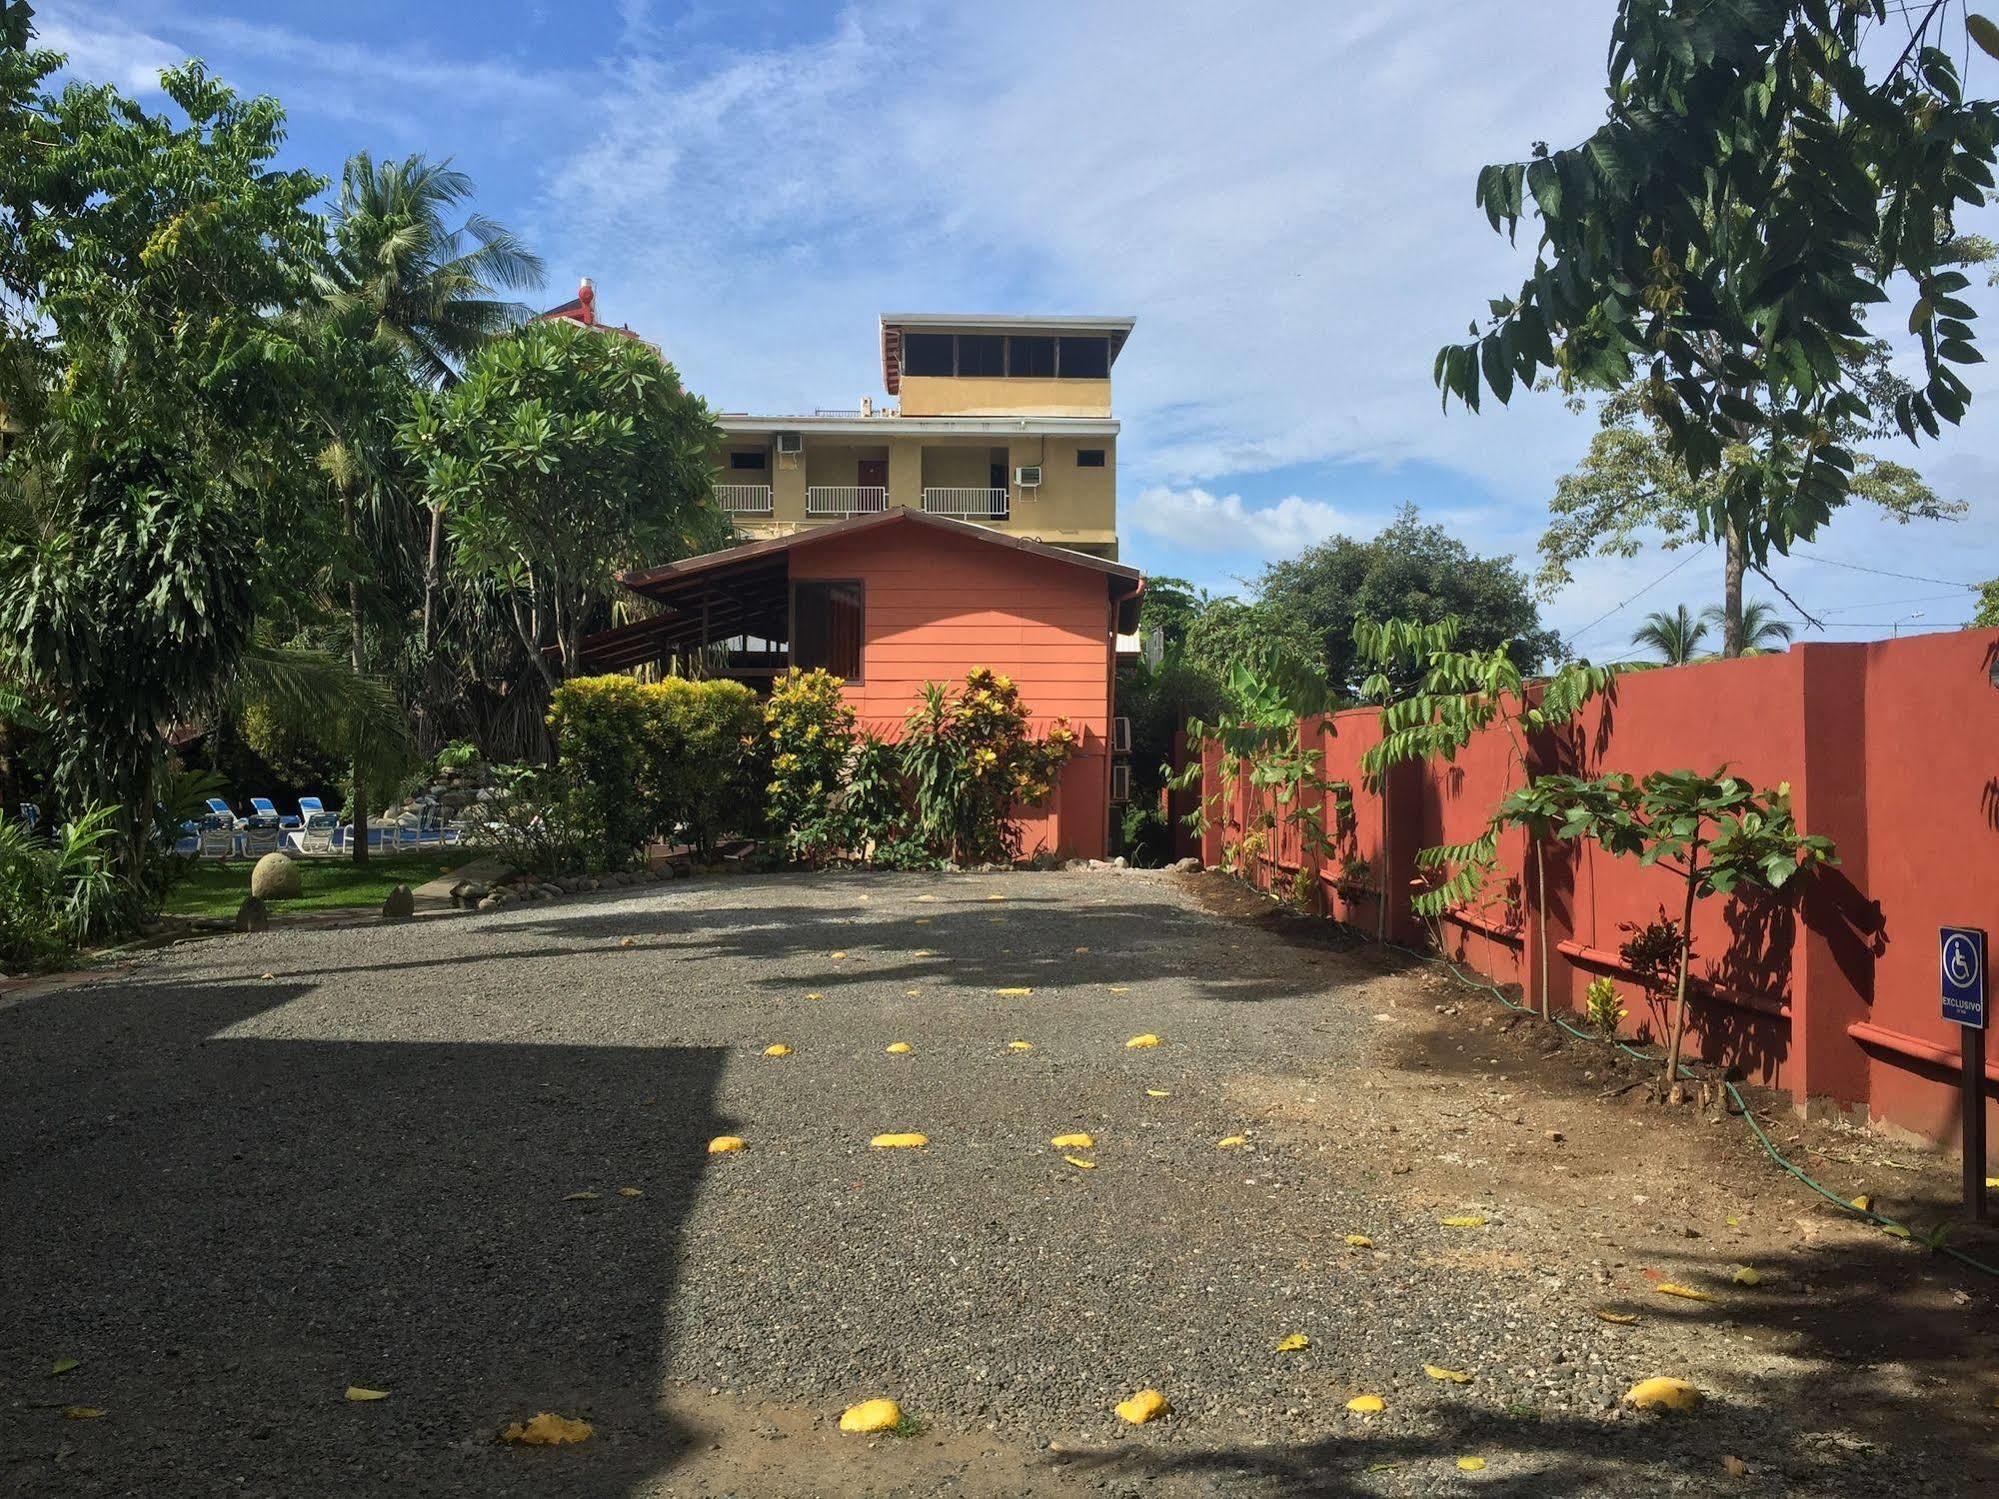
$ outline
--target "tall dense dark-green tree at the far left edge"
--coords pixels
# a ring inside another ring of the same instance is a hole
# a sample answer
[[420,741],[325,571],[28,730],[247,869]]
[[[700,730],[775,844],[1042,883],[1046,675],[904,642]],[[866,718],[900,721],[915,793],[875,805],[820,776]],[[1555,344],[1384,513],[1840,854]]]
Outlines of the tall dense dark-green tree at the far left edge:
[[48,726],[62,803],[116,803],[144,861],[166,730],[254,670],[260,590],[294,526],[320,182],[280,172],[284,114],[200,64],[178,120],[40,82],[26,6],[0,16],[0,672]]

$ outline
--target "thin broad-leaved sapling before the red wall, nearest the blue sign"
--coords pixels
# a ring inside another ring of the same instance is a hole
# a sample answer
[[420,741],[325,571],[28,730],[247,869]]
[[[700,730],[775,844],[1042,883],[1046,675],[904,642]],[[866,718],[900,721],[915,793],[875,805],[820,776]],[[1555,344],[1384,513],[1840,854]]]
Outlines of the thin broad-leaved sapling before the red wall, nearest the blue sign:
[[[1791,815],[1791,787],[1757,789],[1727,769],[1655,769],[1643,781],[1625,773],[1577,779],[1543,777],[1551,797],[1565,799],[1561,837],[1589,837],[1605,851],[1641,865],[1671,869],[1683,881],[1681,933],[1693,933],[1693,905],[1741,887],[1779,891],[1801,871],[1839,863],[1829,837],[1801,833]],[[1687,967],[1691,941],[1679,943],[1673,975],[1673,1017],[1659,1091],[1673,1103],[1679,1053],[1687,1035]]]

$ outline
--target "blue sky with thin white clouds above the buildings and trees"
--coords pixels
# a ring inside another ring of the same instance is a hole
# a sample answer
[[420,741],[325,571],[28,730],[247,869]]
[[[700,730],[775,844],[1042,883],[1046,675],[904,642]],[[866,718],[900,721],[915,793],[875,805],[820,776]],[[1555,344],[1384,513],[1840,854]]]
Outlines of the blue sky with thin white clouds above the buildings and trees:
[[[880,396],[892,308],[1135,314],[1115,372],[1125,556],[1231,590],[1405,500],[1531,572],[1591,420],[1557,396],[1443,414],[1429,364],[1523,260],[1473,210],[1473,174],[1591,128],[1609,14],[72,0],[40,22],[134,92],[202,56],[278,96],[288,156],[322,174],[362,148],[456,158],[548,260],[546,302],[592,276],[600,312],[724,410]],[[1995,292],[1969,296],[1991,312]],[[1973,502],[1963,522],[1855,506],[1773,568],[1833,626],[1813,638],[1959,624],[1961,586],[1999,576],[1993,368],[1967,430],[1913,456]],[[1545,618],[1601,656],[1649,608],[1713,602],[1719,572],[1711,552],[1589,564]]]

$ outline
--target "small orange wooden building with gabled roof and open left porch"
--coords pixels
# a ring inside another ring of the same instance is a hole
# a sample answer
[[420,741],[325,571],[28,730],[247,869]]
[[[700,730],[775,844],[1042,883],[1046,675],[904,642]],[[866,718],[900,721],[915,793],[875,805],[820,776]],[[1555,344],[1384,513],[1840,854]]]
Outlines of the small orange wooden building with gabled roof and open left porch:
[[862,726],[898,738],[926,682],[976,666],[1019,684],[1033,728],[1067,718],[1079,751],[1021,815],[1021,851],[1103,857],[1113,797],[1117,632],[1143,576],[986,526],[886,510],[628,574],[662,614],[584,642],[584,672],[730,646],[730,676],[798,668],[846,680]]

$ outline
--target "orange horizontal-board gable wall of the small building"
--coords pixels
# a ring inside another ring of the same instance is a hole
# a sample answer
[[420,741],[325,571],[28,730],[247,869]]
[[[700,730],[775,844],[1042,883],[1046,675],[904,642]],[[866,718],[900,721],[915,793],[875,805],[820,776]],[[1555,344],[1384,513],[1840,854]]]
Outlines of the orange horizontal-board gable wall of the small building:
[[974,666],[1019,686],[1031,728],[1067,718],[1079,738],[1055,793],[1021,809],[1021,853],[1099,859],[1109,839],[1113,632],[1103,574],[932,528],[888,526],[792,552],[792,578],[860,580],[862,726],[900,738],[926,682]]

